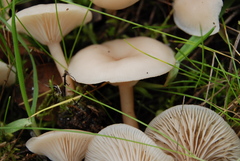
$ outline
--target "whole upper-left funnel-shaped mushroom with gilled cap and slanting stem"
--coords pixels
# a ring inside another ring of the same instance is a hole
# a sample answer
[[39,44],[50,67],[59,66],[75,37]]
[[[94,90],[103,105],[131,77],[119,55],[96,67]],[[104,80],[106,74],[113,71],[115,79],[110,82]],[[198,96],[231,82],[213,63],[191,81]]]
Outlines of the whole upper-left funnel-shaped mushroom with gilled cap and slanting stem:
[[[56,3],[26,8],[19,11],[16,17],[17,31],[30,34],[40,43],[47,45],[60,75],[63,76],[68,65],[60,45],[62,36],[77,26],[89,22],[92,14],[80,6]],[[8,20],[10,25],[11,21]],[[67,76],[66,80],[69,88],[74,89],[71,78]],[[66,93],[70,95],[72,91],[66,89]]]

